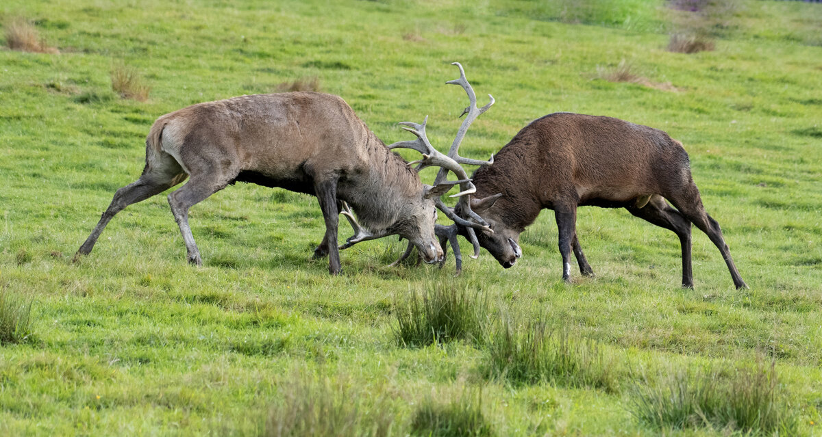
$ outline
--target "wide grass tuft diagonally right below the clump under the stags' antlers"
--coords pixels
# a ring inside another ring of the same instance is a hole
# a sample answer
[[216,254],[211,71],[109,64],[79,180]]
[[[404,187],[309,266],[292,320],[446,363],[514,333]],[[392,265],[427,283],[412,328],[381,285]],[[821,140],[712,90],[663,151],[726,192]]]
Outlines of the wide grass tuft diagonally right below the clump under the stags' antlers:
[[616,392],[613,360],[593,340],[576,338],[566,329],[548,329],[543,320],[519,324],[501,318],[487,338],[487,375],[515,384],[549,381],[566,387],[593,387]]

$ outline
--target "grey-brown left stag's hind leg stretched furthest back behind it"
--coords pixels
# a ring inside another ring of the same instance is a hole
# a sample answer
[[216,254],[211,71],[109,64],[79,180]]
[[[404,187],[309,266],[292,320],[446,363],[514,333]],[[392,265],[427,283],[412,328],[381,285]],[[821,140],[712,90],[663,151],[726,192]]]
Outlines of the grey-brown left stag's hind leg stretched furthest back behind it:
[[186,173],[182,171],[180,165],[171,155],[162,152],[160,154],[150,154],[149,162],[146,164],[141,177],[114,193],[109,208],[105,210],[95,229],[91,231],[89,237],[77,250],[74,260],[79,260],[81,255],[88,255],[94,249],[100,233],[103,232],[114,215],[122,209],[158,195],[182,182],[186,177]]

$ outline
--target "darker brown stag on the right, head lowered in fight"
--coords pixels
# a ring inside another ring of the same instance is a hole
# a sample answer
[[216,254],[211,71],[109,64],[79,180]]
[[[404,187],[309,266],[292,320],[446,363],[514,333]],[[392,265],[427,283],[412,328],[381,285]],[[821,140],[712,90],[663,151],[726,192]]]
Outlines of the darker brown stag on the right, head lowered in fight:
[[[465,219],[473,214],[485,219],[494,232],[479,232],[479,244],[506,269],[522,255],[520,232],[547,208],[555,211],[559,228],[562,278],[570,282],[571,251],[580,272],[593,275],[576,235],[576,209],[591,205],[625,208],[675,232],[682,248],[682,286],[687,288],[694,286],[690,226],[695,224],[722,253],[734,285],[747,288],[719,223],[705,212],[688,154],[679,141],[658,129],[612,117],[553,113],[517,133],[492,165],[478,168],[473,183],[477,191],[469,202],[472,213],[465,214],[462,205],[455,212]],[[462,223],[448,228],[470,233]],[[447,232],[438,233],[444,243]]]

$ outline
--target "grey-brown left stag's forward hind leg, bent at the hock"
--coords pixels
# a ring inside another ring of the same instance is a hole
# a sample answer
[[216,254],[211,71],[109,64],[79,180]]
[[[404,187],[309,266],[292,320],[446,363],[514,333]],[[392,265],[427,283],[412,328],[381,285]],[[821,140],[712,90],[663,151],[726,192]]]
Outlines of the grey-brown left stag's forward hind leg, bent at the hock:
[[[235,175],[236,176],[236,175]],[[226,181],[233,179],[229,177]],[[188,227],[188,209],[192,206],[205,200],[217,191],[222,190],[228,185],[228,182],[221,182],[223,177],[215,178],[213,173],[201,173],[186,182],[177,191],[169,194],[169,205],[171,212],[174,214],[174,220],[180,227],[182,233],[182,241],[186,243],[186,251],[188,252],[188,262],[193,265],[202,265],[200,258],[200,250],[197,249],[194,236],[192,236],[192,228]]]

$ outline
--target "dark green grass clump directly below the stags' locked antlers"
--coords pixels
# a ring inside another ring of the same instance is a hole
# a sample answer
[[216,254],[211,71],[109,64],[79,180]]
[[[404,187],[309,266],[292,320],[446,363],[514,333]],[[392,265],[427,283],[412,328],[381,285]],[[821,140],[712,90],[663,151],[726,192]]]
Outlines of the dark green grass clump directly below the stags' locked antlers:
[[482,342],[484,324],[491,314],[484,293],[455,281],[426,282],[423,291],[412,291],[395,302],[400,344],[427,346],[465,339]]

